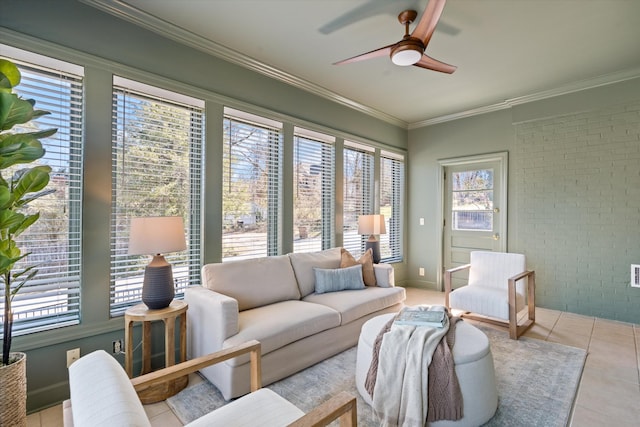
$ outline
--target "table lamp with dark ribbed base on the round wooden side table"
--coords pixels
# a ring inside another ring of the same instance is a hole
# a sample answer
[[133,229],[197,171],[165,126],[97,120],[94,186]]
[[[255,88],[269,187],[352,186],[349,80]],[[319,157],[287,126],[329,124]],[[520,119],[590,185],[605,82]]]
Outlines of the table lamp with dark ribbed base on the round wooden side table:
[[129,255],[153,255],[144,269],[142,302],[150,309],[168,307],[175,295],[171,264],[162,254],[187,248],[181,217],[132,218]]

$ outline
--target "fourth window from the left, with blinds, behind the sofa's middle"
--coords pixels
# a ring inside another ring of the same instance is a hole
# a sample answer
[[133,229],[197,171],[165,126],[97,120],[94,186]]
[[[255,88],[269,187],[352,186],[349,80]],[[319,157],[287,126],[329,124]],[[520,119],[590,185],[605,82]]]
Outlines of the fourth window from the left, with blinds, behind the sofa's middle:
[[334,139],[295,129],[293,144],[293,251],[333,247]]

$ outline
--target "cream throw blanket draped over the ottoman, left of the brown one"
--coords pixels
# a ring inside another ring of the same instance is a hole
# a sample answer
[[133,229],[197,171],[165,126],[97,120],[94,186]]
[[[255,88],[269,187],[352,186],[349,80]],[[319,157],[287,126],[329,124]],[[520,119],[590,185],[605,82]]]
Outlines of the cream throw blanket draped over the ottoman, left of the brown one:
[[448,330],[445,316],[443,328],[394,324],[383,336],[373,392],[373,410],[381,427],[426,424],[429,364]]

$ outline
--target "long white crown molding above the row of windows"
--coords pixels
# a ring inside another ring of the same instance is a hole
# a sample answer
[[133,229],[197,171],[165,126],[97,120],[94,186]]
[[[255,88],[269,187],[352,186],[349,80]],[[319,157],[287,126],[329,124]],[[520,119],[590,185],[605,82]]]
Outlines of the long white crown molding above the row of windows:
[[279,70],[276,67],[265,64],[261,61],[243,55],[226,46],[222,46],[214,41],[206,39],[191,31],[185,30],[177,25],[159,19],[149,13],[124,3],[121,0],[80,0],[89,6],[107,12],[125,21],[129,21],[135,25],[153,31],[164,37],[170,38],[178,43],[193,47],[202,52],[216,56],[227,62],[240,65],[249,70],[271,77],[275,80],[284,82],[290,86],[305,90],[325,99],[329,99],[338,104],[349,107],[353,110],[367,114],[374,118],[383,120],[392,125],[407,129],[408,123],[394,117],[390,114],[376,110],[374,108],[363,105],[357,101],[346,98],[338,93],[330,91],[322,86],[311,83],[307,80],[296,77],[292,74]]

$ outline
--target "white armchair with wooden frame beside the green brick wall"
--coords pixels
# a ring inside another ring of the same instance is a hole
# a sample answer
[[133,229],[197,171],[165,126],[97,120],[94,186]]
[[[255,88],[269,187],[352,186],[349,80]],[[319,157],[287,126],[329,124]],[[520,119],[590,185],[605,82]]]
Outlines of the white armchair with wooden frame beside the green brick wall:
[[[451,275],[467,269],[468,285],[452,289]],[[518,339],[535,323],[535,271],[526,269],[523,254],[473,251],[469,264],[445,271],[444,284],[448,309],[462,310],[465,317],[508,326],[511,339]],[[518,313],[525,304],[527,318],[519,325]]]

